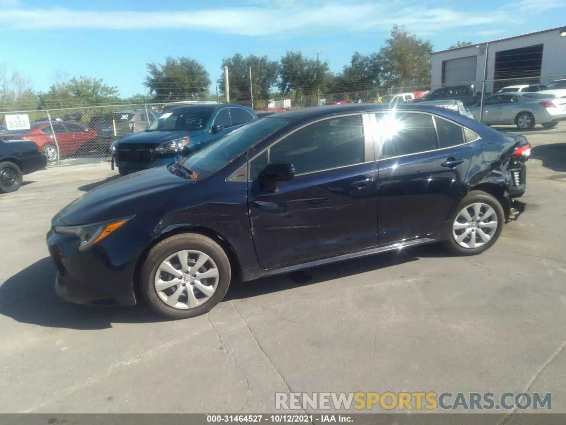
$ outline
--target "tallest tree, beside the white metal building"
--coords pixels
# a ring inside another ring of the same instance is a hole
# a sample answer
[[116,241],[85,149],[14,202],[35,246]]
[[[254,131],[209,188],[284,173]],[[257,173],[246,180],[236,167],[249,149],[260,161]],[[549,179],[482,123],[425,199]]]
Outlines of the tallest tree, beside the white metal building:
[[430,85],[432,44],[393,25],[391,36],[379,50],[381,83],[398,90]]

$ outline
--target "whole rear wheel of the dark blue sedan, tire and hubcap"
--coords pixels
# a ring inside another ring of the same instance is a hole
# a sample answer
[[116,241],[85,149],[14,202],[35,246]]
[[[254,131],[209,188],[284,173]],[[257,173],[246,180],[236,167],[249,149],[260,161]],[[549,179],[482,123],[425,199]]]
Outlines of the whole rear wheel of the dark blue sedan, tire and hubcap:
[[495,244],[505,222],[503,207],[495,197],[473,190],[456,210],[451,237],[444,241],[448,250],[469,256],[482,253]]

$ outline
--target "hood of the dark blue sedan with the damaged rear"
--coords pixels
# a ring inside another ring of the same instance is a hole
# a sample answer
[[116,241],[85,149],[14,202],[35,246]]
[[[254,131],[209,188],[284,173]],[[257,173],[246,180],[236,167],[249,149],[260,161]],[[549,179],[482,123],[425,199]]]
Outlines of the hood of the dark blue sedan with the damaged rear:
[[97,186],[59,211],[52,222],[78,226],[155,209],[173,197],[175,189],[194,182],[167,167],[150,168]]

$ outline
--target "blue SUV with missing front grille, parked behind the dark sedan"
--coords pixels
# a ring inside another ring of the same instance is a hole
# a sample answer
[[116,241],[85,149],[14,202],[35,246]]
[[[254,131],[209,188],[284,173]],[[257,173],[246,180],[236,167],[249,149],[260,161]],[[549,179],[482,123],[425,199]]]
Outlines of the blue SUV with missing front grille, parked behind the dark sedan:
[[258,116],[242,105],[193,104],[170,109],[145,131],[110,145],[112,169],[124,176],[177,162]]

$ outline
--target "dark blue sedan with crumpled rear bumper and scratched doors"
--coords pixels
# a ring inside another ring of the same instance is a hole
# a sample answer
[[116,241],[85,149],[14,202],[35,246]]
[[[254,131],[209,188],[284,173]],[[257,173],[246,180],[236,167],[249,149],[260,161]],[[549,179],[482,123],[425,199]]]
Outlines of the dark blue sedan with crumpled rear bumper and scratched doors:
[[177,163],[108,182],[47,235],[55,289],[201,315],[233,279],[443,241],[483,252],[526,188],[525,137],[449,109],[351,104],[261,118]]

